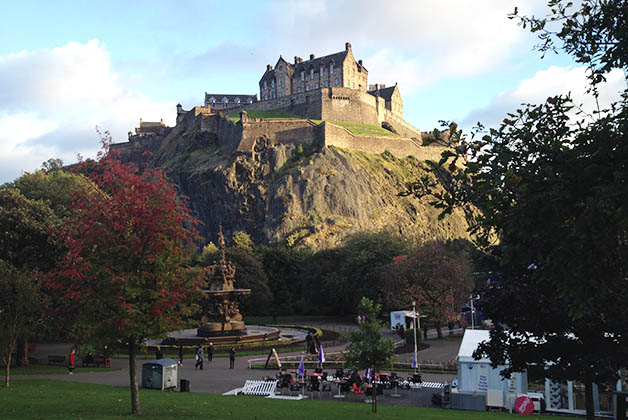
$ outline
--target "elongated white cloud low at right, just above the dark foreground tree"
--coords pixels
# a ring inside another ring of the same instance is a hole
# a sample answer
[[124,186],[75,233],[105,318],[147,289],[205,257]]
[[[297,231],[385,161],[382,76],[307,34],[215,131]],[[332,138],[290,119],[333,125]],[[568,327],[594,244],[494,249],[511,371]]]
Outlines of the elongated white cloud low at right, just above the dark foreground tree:
[[595,98],[586,93],[589,86],[585,67],[551,66],[538,71],[533,77],[523,80],[514,90],[497,95],[486,107],[475,109],[467,115],[462,126],[469,128],[478,121],[487,127],[496,127],[509,112],[521,107],[521,104],[539,104],[548,96],[571,94],[575,104],[582,105],[588,113],[609,106],[620,98],[619,92],[626,88],[626,79],[621,70],[615,69],[607,75],[606,83],[598,86],[600,96]]

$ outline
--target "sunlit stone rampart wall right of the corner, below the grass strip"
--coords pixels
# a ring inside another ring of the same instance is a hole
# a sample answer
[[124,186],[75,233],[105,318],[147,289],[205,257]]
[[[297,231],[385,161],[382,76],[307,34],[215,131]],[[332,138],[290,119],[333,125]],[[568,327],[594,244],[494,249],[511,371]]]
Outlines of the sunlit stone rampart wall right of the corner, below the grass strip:
[[381,154],[388,150],[399,159],[414,156],[422,161],[439,160],[441,153],[445,150],[443,147],[422,147],[408,137],[354,134],[344,127],[326,122],[322,125],[322,134],[325,137],[326,146],[336,146],[372,154]]

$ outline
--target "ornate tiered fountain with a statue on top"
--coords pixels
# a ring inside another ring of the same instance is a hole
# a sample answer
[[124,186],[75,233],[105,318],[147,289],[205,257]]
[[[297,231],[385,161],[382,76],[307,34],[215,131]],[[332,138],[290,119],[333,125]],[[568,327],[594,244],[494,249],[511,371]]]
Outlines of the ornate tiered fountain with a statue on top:
[[238,308],[239,300],[251,294],[251,289],[235,289],[235,267],[225,258],[225,236],[222,228],[218,233],[220,261],[207,267],[207,288],[203,293],[209,308],[197,329],[198,337],[239,336],[246,334],[246,325]]

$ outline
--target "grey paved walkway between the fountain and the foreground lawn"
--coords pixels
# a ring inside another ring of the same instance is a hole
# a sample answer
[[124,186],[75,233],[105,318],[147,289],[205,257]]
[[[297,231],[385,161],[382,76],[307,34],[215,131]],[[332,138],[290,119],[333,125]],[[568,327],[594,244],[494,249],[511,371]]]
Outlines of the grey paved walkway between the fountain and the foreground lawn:
[[[314,322],[307,323],[310,326],[317,326],[322,328],[337,329],[336,325],[316,324]],[[343,325],[347,330],[351,328],[349,325]],[[392,333],[387,335],[392,335]],[[455,359],[458,352],[459,342],[450,340],[428,340],[430,347],[419,352],[419,361],[434,360],[434,361],[448,361]],[[39,344],[37,349],[33,352],[33,356],[42,360],[44,363],[47,360],[48,354],[63,355],[69,353],[71,348],[70,344]],[[327,354],[335,351],[343,350],[344,346],[325,348]],[[299,353],[292,353],[292,355],[298,355]],[[285,357],[290,353],[280,354],[280,357]],[[213,362],[205,362],[205,368],[203,370],[194,369],[194,360],[185,359],[183,366],[179,368],[178,379],[187,379],[190,381],[190,391],[209,393],[209,394],[223,394],[235,388],[240,388],[247,379],[262,379],[265,376],[274,376],[277,371],[273,370],[261,370],[248,368],[248,360],[256,359],[262,356],[242,356],[236,358],[235,369],[229,369],[229,359],[227,357],[214,357]],[[400,355],[402,360],[411,359],[411,354]],[[141,383],[141,368],[142,364],[146,360],[137,360],[136,371],[138,373],[138,383]],[[125,359],[114,359],[113,367],[120,370],[108,371],[108,372],[80,372],[80,368],[74,375],[25,375],[23,378],[49,378],[60,379],[65,381],[95,383],[112,386],[127,387],[129,384],[129,367],[128,361]],[[424,381],[430,382],[443,382],[451,381],[455,375],[445,374],[423,374]],[[14,376],[16,379],[20,378],[19,375]],[[332,393],[322,393],[323,399],[333,400],[333,394],[336,393],[336,387],[332,387]],[[378,401],[382,403],[397,404],[397,405],[413,405],[413,406],[430,406],[431,395],[435,391],[433,389],[425,390],[407,390],[399,391],[402,394],[401,398],[390,397],[391,391],[386,391],[386,395],[382,398],[378,397]],[[318,394],[315,394],[318,398]],[[350,395],[349,397],[353,397]],[[356,402],[363,401],[363,397],[359,398],[345,398],[342,401]]]

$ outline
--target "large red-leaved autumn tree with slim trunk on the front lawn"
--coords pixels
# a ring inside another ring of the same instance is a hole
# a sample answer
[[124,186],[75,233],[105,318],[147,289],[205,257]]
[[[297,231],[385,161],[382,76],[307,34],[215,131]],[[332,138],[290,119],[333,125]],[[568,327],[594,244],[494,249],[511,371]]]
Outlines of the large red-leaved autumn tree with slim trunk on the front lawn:
[[81,169],[99,189],[77,193],[57,232],[68,252],[43,285],[75,337],[128,346],[131,411],[138,413],[138,345],[180,329],[200,293],[199,271],[188,267],[196,222],[159,170],[112,155]]

